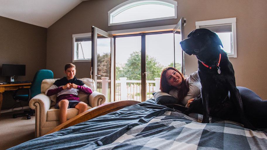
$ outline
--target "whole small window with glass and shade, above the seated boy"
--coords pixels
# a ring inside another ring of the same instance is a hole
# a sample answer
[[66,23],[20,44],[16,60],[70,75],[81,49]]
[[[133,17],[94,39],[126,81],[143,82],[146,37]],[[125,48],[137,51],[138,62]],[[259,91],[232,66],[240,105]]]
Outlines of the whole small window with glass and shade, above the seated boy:
[[91,33],[72,35],[72,62],[91,61],[92,39]]

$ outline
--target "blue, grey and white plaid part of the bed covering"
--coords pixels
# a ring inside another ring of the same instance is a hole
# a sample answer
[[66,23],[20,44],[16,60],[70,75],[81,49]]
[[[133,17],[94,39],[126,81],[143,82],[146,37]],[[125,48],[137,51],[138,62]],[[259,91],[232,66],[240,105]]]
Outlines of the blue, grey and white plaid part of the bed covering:
[[192,113],[190,116],[166,111],[97,150],[267,149],[266,132],[252,131],[232,121],[212,118],[212,123],[198,123],[202,115]]

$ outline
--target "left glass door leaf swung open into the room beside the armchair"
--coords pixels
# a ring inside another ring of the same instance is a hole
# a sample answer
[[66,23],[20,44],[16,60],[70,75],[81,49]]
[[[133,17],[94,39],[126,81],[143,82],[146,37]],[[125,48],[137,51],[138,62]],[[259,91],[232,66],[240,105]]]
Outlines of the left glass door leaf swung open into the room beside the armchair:
[[106,102],[110,102],[113,96],[113,54],[113,36],[92,27],[92,77],[97,91],[106,96]]

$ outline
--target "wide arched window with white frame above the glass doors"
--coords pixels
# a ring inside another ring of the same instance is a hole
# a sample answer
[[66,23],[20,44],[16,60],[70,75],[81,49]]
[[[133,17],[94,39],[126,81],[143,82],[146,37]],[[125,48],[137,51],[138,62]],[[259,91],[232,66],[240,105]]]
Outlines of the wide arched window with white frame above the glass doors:
[[109,26],[154,20],[176,19],[177,1],[129,0],[108,12]]

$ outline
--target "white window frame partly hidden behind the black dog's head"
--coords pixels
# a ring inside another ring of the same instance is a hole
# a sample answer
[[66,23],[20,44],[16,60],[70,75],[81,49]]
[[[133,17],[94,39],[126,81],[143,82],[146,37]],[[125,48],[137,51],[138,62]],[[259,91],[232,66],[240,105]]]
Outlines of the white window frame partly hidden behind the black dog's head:
[[231,37],[232,49],[230,53],[227,53],[227,55],[228,57],[237,58],[236,18],[196,21],[196,29],[199,29],[201,26],[216,26],[225,24],[232,24],[232,37]]

